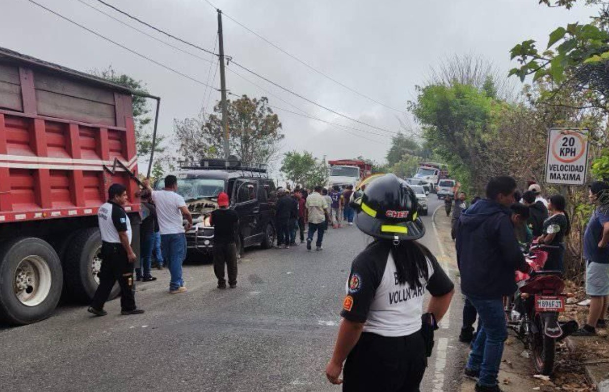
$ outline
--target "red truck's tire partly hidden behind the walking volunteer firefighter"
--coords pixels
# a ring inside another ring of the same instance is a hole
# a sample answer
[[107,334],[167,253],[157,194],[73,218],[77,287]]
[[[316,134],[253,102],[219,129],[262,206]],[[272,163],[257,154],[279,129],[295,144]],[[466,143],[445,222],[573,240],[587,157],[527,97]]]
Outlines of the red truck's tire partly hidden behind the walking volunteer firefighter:
[[[66,282],[68,298],[83,304],[89,304],[99,286],[97,273],[101,266],[99,253],[102,248],[102,236],[97,227],[83,230],[72,239],[66,249],[63,260],[63,276]],[[114,285],[108,299],[118,296],[121,288]]]

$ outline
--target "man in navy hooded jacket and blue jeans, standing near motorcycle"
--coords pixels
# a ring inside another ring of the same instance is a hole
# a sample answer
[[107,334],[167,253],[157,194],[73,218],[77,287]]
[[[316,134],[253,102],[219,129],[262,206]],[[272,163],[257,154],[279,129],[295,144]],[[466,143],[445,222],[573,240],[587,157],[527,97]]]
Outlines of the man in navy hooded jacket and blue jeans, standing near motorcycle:
[[515,190],[512,177],[494,177],[487,199],[463,212],[457,226],[461,291],[482,324],[465,369],[466,375],[479,377],[476,392],[501,391],[497,377],[507,338],[502,299],[516,291],[514,271],[528,270],[510,220]]

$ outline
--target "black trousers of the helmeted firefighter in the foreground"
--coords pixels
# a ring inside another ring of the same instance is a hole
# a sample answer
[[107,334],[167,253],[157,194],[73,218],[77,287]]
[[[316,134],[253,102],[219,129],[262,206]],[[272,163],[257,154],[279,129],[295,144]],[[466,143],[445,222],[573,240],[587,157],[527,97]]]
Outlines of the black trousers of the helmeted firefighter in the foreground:
[[421,332],[382,337],[364,332],[347,356],[345,392],[419,392],[427,366]]

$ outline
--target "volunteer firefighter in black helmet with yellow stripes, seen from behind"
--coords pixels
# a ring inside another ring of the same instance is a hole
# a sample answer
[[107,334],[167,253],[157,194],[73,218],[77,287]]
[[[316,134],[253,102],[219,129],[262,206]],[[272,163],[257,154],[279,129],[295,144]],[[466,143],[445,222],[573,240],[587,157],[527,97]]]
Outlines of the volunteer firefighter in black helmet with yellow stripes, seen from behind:
[[[326,376],[331,383],[343,382],[343,391],[419,391],[454,285],[434,255],[415,241],[425,228],[406,182],[393,174],[379,177],[353,207],[357,227],[375,241],[351,265]],[[426,291],[432,297],[423,314]]]

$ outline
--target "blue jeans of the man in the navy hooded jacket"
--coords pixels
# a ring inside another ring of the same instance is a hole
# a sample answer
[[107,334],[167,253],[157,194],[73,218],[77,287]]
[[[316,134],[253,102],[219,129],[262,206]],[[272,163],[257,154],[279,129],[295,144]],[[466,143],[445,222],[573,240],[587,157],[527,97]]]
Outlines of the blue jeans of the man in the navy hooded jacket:
[[482,299],[468,296],[478,312],[479,331],[471,348],[468,369],[479,370],[478,384],[495,387],[507,338],[507,324],[503,309],[503,299]]

